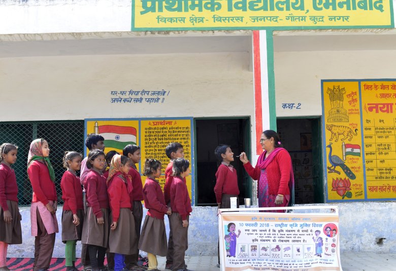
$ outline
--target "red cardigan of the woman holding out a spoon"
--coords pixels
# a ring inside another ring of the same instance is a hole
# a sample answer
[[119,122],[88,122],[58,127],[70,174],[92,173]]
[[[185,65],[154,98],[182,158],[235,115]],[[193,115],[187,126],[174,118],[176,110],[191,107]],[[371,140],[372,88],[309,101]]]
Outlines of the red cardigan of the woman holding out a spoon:
[[[250,162],[243,165],[247,173],[254,180],[260,178],[261,169],[259,167],[253,168]],[[276,154],[274,160],[268,165],[266,171],[268,175],[268,186],[270,195],[290,195],[289,180],[290,180],[291,158],[287,150],[281,150]]]

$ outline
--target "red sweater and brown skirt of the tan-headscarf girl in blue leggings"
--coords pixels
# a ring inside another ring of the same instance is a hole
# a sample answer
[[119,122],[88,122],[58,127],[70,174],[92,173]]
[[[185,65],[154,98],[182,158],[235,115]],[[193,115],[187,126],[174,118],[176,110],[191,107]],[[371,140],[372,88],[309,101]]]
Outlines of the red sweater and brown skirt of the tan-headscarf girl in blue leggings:
[[121,176],[121,173],[115,174],[108,188],[111,219],[117,222],[116,229],[110,230],[109,248],[111,253],[130,255],[137,246],[135,220],[130,211],[128,184]]

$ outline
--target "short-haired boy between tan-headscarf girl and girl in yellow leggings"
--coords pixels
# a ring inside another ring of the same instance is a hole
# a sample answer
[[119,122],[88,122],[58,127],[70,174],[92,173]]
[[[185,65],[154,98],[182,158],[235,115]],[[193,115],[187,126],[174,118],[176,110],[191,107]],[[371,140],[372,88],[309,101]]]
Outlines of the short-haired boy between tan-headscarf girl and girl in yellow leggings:
[[142,266],[138,265],[138,244],[143,220],[143,184],[140,173],[136,168],[136,164],[139,164],[142,155],[140,152],[140,147],[132,144],[126,145],[122,150],[122,154],[126,156],[130,162],[128,175],[130,176],[133,186],[133,190],[130,193],[130,204],[132,206],[132,214],[134,215],[135,219],[135,233],[137,237],[137,242],[136,246],[133,248],[133,253],[131,255],[125,256],[125,264],[126,268],[132,269],[134,271],[145,270],[142,268]]

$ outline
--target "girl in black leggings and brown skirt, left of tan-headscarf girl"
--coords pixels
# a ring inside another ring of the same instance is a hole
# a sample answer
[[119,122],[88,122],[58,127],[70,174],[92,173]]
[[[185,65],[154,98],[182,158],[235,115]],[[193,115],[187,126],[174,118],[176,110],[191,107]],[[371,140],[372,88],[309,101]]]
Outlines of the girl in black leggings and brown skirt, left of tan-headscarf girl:
[[105,153],[103,150],[92,149],[89,151],[87,168],[90,170],[84,182],[87,212],[84,218],[81,243],[88,245],[92,271],[104,268],[109,241],[109,198],[106,178],[102,174],[104,166]]

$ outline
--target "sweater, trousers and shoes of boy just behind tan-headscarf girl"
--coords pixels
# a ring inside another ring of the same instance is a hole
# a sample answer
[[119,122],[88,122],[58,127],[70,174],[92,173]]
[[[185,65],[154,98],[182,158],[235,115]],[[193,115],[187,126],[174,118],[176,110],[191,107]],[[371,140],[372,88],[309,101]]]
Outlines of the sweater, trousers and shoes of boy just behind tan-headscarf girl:
[[139,258],[139,249],[138,243],[140,239],[140,229],[142,227],[142,220],[143,220],[143,184],[142,178],[140,177],[139,171],[132,165],[127,175],[130,176],[130,180],[132,182],[133,189],[129,193],[130,196],[130,204],[132,214],[135,220],[135,233],[136,233],[136,246],[133,248],[133,252],[131,255],[125,256],[125,264],[126,268],[132,268],[138,264]]

